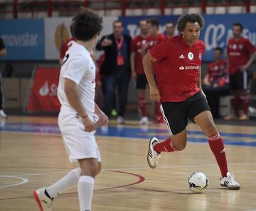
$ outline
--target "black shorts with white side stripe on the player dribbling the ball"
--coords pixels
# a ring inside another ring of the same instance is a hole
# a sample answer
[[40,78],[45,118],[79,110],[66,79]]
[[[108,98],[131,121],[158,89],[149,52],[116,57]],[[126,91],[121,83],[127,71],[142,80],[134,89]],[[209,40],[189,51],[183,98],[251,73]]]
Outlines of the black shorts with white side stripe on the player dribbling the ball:
[[[176,135],[186,128],[188,118],[194,122],[193,118],[210,107],[201,91],[181,102],[161,103],[161,113],[164,117],[170,135]],[[195,122],[194,122],[195,123]]]

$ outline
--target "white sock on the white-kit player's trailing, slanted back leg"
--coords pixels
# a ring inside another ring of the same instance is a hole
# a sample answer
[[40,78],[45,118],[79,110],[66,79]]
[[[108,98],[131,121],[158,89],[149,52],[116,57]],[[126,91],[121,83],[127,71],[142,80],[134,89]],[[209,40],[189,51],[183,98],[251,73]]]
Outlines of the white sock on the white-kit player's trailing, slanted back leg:
[[80,167],[73,169],[66,176],[55,182],[52,186],[46,188],[47,193],[51,198],[55,198],[58,194],[63,193],[64,190],[77,185],[80,174]]

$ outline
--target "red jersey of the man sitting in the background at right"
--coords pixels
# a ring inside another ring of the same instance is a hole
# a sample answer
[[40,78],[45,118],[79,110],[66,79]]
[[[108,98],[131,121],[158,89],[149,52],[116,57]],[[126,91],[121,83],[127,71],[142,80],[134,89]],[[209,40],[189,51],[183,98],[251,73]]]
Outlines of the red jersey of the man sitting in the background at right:
[[210,84],[218,83],[218,79],[220,79],[223,76],[227,76],[226,66],[227,65],[225,59],[220,60],[220,62],[211,62],[209,64],[208,74]]

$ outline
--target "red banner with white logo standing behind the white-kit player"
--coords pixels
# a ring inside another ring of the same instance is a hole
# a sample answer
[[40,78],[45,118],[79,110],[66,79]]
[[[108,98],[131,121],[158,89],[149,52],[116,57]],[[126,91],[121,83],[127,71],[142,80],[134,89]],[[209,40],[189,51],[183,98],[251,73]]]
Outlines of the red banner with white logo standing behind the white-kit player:
[[26,106],[28,112],[58,112],[60,110],[57,97],[59,76],[59,68],[38,67],[36,69]]

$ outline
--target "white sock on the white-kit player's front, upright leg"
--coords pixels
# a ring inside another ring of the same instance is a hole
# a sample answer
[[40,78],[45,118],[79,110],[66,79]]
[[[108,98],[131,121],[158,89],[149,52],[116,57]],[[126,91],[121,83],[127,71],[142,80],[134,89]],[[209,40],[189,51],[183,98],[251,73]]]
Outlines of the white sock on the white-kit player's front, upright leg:
[[91,176],[80,176],[78,181],[78,196],[80,211],[92,209],[92,195],[95,179]]

